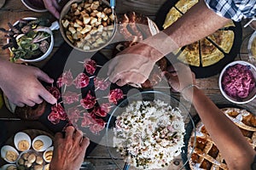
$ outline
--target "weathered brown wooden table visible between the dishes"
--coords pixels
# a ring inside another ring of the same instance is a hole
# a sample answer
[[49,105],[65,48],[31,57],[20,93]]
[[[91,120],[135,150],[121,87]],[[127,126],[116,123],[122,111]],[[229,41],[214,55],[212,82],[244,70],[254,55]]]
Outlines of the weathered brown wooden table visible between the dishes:
[[[116,12],[117,14],[124,14],[127,11],[137,11],[138,13],[145,14],[151,19],[154,20],[157,11],[159,10],[161,4],[163,4],[166,0],[125,0],[125,1],[116,1]],[[27,9],[21,1],[17,0],[7,0],[3,8],[0,8],[0,27],[8,28],[7,23],[14,23],[16,20],[19,20],[23,17],[33,16],[38,17],[42,15],[51,15],[49,13],[35,13],[31,10]],[[51,17],[52,18],[52,17]],[[52,18],[53,19],[53,18]],[[242,21],[244,24],[244,21]],[[250,27],[242,29],[242,37],[243,40],[246,39],[249,35],[251,35],[253,30]],[[63,39],[60,35],[59,31],[54,32],[55,36],[55,48],[53,53],[61,46]],[[9,51],[2,50],[2,46],[6,43],[6,38],[3,37],[3,33],[0,32],[0,56],[6,59],[9,59]],[[111,49],[104,48],[101,50],[102,54],[109,56]],[[243,45],[241,47],[241,57],[247,56],[247,47]],[[240,56],[237,56],[236,59],[240,59]],[[46,59],[47,60],[47,59]],[[46,62],[46,61],[44,61]],[[44,62],[36,63],[35,65],[44,65]],[[1,80],[0,80],[1,81]],[[207,94],[207,96],[212,99],[212,101],[217,105],[230,105],[231,103],[224,99],[222,94],[220,94],[218,88],[218,75],[208,78],[201,78],[196,80],[198,86]],[[178,95],[178,94],[177,94]],[[255,110],[256,99],[246,105],[240,105],[241,107],[253,111],[256,114]],[[10,113],[5,107],[0,110],[0,118],[7,118],[5,121],[1,121],[1,124],[5,124],[6,126],[6,135],[9,138],[13,133],[18,132],[23,129],[37,128],[44,131],[49,131],[47,127],[40,122],[26,122],[26,121],[15,121],[9,120],[15,118],[15,116]],[[196,115],[195,109],[190,108],[190,113],[194,116]],[[108,150],[106,147],[98,145],[95,150],[90,153],[90,156],[85,160],[93,164],[95,169],[99,170],[107,170],[107,169],[117,169],[114,165],[112,159],[108,155]],[[180,161],[180,160],[177,160]],[[0,165],[1,167],[2,165]],[[173,165],[175,167],[175,165]],[[93,169],[93,168],[89,168]],[[172,169],[172,168],[170,168]]]

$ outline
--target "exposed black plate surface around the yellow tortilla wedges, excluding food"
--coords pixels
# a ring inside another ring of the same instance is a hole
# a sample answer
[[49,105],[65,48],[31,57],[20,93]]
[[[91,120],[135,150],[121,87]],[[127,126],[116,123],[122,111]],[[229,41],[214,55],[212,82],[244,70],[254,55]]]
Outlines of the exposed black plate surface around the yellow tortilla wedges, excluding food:
[[[168,14],[169,10],[177,3],[177,0],[170,1],[167,0],[166,3],[164,3],[160,9],[159,12],[156,15],[155,24],[159,27],[160,30],[163,30],[162,25],[164,24],[166,20],[166,14]],[[234,31],[235,33],[235,39],[232,48],[230,49],[229,54],[224,54],[224,58],[219,60],[218,63],[214,65],[209,65],[206,67],[196,67],[190,65],[190,68],[192,71],[195,72],[196,78],[204,78],[204,77],[212,77],[216,74],[218,74],[225,65],[230,63],[236,58],[236,55],[239,53],[239,49],[241,47],[241,23],[240,22],[234,22],[236,27],[230,26],[227,29]]]

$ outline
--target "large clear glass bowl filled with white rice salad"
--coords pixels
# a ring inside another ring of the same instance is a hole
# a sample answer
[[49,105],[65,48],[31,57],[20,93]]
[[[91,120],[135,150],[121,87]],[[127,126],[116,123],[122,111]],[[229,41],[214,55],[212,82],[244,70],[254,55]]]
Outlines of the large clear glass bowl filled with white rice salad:
[[134,94],[123,100],[111,114],[107,144],[113,158],[122,157],[117,167],[131,169],[182,169],[173,167],[181,159],[189,111],[170,95],[157,91]]

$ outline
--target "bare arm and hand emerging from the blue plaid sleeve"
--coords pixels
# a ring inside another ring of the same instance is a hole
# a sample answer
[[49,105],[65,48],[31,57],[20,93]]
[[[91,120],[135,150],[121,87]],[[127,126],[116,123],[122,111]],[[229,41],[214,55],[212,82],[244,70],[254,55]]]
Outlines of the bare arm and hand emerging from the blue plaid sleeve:
[[120,86],[127,82],[143,83],[157,60],[177,48],[206,37],[228,21],[212,12],[201,0],[165,31],[126,48],[112,59],[108,69],[109,80]]

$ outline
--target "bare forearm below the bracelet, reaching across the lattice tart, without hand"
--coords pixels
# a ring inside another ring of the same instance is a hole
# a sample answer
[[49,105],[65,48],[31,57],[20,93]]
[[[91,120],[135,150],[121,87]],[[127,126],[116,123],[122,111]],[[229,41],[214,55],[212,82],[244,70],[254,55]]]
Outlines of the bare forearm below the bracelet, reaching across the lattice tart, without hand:
[[201,90],[191,88],[185,95],[189,98],[192,94],[195,110],[201,117],[201,121],[212,140],[217,144],[228,166],[233,167],[231,169],[249,169],[255,152],[239,128]]

